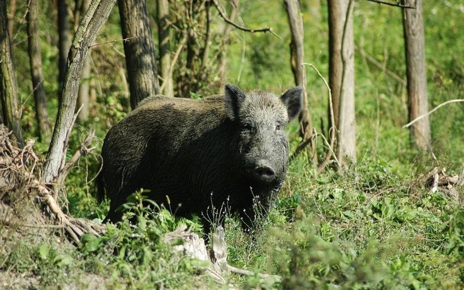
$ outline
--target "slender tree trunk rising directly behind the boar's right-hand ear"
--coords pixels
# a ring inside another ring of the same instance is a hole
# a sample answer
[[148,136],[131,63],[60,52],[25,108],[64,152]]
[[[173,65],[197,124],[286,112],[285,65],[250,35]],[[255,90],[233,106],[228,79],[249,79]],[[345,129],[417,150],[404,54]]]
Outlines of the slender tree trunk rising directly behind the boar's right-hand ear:
[[301,7],[298,0],[285,0],[285,7],[292,34],[290,50],[293,75],[295,77],[295,84],[303,88],[303,108],[299,117],[300,134],[302,136],[301,144],[308,144],[310,146],[309,152],[311,160],[314,164],[317,164],[316,139],[312,138],[313,126],[308,108],[308,92],[306,89],[306,76],[303,67],[303,19]]

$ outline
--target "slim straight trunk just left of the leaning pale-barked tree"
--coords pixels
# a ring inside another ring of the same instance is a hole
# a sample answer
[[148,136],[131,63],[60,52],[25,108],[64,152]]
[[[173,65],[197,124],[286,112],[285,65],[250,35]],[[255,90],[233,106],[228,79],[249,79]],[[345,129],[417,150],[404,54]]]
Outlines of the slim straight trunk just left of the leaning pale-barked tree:
[[31,70],[32,88],[34,89],[35,116],[39,140],[50,142],[51,126],[46,109],[46,95],[44,89],[44,74],[42,72],[42,56],[40,54],[39,38],[39,1],[30,0],[27,12],[27,40],[29,63]]

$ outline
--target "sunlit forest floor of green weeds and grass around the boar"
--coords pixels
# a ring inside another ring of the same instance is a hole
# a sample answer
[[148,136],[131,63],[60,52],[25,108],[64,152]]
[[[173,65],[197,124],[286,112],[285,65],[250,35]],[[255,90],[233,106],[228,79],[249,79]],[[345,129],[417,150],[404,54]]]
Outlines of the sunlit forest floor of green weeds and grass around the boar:
[[[148,213],[141,194],[121,223],[107,224],[99,235],[84,233],[76,243],[39,198],[37,156],[5,144],[0,146],[4,290],[462,289],[462,172],[430,166],[404,178],[382,162],[368,161],[344,174],[316,174],[299,158],[262,232],[250,236],[236,219],[226,219],[227,262],[248,271],[225,278],[221,273],[218,283],[209,261],[174,254],[185,240],[163,238],[180,225],[201,235],[199,224],[165,209]],[[58,203],[68,212],[69,201]],[[137,224],[130,222],[134,218]]]

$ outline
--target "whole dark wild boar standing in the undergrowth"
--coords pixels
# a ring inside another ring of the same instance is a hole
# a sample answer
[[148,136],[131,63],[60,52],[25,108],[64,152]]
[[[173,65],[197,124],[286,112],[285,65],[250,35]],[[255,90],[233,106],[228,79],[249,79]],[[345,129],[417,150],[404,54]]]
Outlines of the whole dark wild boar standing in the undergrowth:
[[250,226],[255,208],[267,214],[285,178],[284,129],[301,104],[300,87],[281,97],[226,85],[224,95],[202,100],[144,99],[103,143],[97,187],[100,201],[111,200],[106,220],[120,220],[118,207],[143,188],[166,207],[168,196],[178,216],[228,208]]

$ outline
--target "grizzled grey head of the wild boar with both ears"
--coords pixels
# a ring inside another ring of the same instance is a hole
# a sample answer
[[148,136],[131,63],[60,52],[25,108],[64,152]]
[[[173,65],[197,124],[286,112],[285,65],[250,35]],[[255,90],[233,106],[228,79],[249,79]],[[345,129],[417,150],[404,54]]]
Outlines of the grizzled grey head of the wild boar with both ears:
[[264,91],[245,94],[226,85],[226,113],[238,128],[240,162],[254,184],[280,183],[285,177],[289,150],[285,126],[300,113],[302,92],[296,87],[280,97]]

